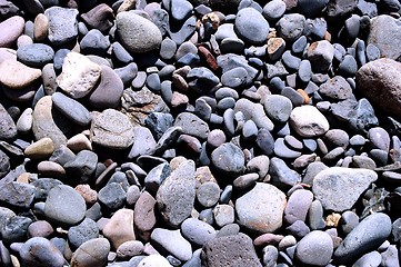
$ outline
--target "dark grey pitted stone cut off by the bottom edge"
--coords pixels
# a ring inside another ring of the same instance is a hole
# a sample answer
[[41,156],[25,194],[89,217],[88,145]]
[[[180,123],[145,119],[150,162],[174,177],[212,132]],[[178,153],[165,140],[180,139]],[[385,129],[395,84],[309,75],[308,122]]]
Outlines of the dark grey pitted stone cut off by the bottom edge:
[[202,263],[209,267],[249,266],[261,267],[252,239],[244,235],[231,235],[208,241],[201,254]]

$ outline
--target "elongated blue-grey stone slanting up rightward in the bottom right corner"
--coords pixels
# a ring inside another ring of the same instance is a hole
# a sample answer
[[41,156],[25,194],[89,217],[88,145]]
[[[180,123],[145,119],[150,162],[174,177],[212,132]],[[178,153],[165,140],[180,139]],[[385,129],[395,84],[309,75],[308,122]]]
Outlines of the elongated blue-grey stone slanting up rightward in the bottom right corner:
[[363,254],[377,249],[391,234],[391,219],[385,214],[372,214],[363,219],[335,249],[333,259],[350,264]]

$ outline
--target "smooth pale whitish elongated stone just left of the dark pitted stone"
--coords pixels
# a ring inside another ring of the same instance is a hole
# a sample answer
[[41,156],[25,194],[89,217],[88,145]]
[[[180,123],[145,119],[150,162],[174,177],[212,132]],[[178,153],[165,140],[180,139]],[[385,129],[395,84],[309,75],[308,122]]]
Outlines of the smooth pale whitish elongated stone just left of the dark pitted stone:
[[[192,257],[191,244],[182,237],[180,230],[156,228],[150,238],[179,260],[187,261]],[[174,244],[174,246],[171,246],[171,244]]]

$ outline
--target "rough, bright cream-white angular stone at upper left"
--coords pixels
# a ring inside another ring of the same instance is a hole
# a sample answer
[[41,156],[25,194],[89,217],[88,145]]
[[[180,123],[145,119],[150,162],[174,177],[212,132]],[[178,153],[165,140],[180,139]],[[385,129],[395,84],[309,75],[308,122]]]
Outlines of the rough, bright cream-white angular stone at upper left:
[[59,87],[74,99],[87,96],[97,85],[101,67],[86,56],[69,52],[62,65],[62,72],[57,78]]

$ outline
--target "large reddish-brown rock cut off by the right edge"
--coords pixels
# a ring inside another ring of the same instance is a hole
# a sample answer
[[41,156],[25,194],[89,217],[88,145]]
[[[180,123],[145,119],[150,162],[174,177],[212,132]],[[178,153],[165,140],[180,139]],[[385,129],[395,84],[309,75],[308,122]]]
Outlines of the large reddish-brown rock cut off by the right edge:
[[382,58],[365,63],[357,72],[357,90],[382,110],[400,118],[400,71],[401,63],[392,59]]

